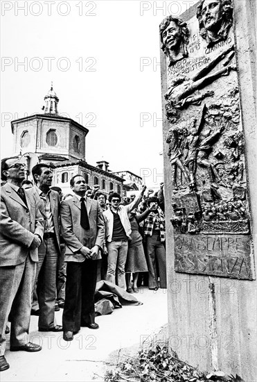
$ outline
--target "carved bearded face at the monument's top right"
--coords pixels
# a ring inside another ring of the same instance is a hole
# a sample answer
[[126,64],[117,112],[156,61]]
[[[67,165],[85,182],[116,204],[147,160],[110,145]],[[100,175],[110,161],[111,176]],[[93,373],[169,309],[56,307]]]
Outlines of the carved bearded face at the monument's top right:
[[220,0],[205,0],[202,4],[202,22],[207,31],[218,28],[222,17]]

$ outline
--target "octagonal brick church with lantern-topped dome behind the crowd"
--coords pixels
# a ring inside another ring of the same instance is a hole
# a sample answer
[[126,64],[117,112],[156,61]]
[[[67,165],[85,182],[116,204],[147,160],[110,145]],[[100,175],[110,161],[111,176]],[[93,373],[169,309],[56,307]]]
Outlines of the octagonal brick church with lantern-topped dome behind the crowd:
[[32,180],[31,169],[37,163],[53,167],[53,185],[62,188],[63,194],[71,192],[69,181],[81,174],[93,188],[123,195],[125,179],[109,170],[109,163],[99,161],[96,166],[86,161],[86,136],[89,130],[71,118],[58,114],[59,99],[53,90],[44,97],[44,113],[15,119],[11,122],[14,151],[26,163],[27,178]]

